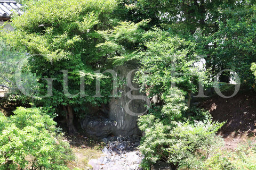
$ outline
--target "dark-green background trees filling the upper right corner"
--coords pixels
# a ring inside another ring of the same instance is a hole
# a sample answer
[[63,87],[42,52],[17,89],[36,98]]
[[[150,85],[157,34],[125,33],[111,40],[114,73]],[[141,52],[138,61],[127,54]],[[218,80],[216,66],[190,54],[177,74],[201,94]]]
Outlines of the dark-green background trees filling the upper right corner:
[[[197,43],[198,53],[205,55],[206,67],[212,70],[212,74],[217,74],[221,70],[231,69],[232,67],[236,72],[241,72],[245,69],[244,75],[239,74],[239,76],[243,80],[247,79],[246,82],[252,80],[251,78],[246,78],[246,74],[249,75],[250,69],[248,65],[250,65],[250,60],[254,60],[253,56],[243,57],[242,60],[237,56],[242,56],[245,53],[242,52],[241,46],[245,47],[248,44],[246,42],[254,41],[253,24],[249,24],[249,26],[242,24],[242,22],[253,23],[254,14],[252,11],[254,7],[252,5],[254,1],[193,0],[177,2],[142,0],[121,2],[124,9],[121,10],[122,14],[126,14],[124,16],[129,20],[151,19],[150,27],[157,25],[159,28],[185,36],[186,39],[193,39]],[[140,17],[137,14],[140,14]],[[238,28],[238,24],[243,26],[239,25]],[[234,28],[236,28],[237,35],[234,34]],[[227,36],[225,42],[228,43],[222,44],[222,39],[225,36]],[[228,36],[230,37],[228,38]],[[240,40],[235,36],[240,37],[238,38]],[[241,43],[244,45],[240,45]],[[252,47],[253,45],[246,48]],[[237,52],[237,50],[240,52]],[[220,80],[229,82],[229,76],[229,74],[227,76],[221,75]]]

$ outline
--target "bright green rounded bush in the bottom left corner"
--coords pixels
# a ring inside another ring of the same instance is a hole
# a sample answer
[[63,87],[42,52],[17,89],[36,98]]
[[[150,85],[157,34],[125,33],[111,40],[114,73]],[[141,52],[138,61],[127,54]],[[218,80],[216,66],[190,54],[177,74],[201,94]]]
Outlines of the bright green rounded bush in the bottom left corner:
[[56,122],[39,108],[18,107],[0,115],[0,169],[68,169],[74,159]]

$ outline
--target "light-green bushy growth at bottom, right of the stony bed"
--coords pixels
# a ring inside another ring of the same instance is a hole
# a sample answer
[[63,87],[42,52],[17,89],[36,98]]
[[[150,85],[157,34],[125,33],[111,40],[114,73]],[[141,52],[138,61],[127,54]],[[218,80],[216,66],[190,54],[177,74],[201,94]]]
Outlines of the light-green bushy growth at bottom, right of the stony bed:
[[223,123],[211,118],[194,123],[172,122],[164,124],[155,115],[144,115],[139,119],[139,128],[145,132],[140,150],[145,159],[141,166],[149,169],[157,160],[170,162],[181,168],[198,168],[209,154],[221,145],[215,132]]

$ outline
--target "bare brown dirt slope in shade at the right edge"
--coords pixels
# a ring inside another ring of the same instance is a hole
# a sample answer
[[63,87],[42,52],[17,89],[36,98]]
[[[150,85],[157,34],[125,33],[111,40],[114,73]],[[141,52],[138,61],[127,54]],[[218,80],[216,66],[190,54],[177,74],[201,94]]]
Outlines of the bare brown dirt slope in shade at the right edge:
[[256,93],[239,92],[232,98],[213,96],[200,105],[207,109],[215,121],[227,121],[219,131],[226,148],[234,149],[239,142],[254,140],[256,136]]

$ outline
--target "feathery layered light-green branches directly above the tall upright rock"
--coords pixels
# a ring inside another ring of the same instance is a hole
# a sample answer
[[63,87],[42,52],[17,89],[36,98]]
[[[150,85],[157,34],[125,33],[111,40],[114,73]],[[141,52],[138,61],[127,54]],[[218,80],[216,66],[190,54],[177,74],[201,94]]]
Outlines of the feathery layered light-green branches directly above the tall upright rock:
[[129,61],[140,60],[139,49],[143,43],[142,29],[149,20],[142,20],[138,23],[119,22],[116,27],[106,31],[98,31],[105,43],[96,47],[100,52],[98,55],[106,56],[114,65],[122,65]]

